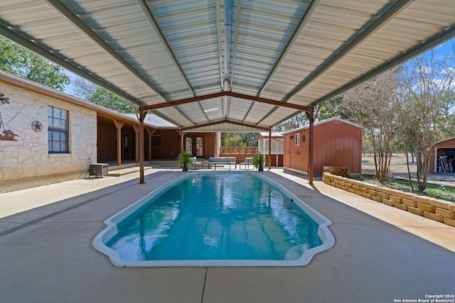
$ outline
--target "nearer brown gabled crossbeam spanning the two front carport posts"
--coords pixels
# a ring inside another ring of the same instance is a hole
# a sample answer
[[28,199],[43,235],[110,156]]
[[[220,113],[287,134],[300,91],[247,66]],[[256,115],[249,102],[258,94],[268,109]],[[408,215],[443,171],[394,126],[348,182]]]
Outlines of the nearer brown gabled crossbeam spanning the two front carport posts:
[[203,96],[180,99],[180,100],[176,100],[176,101],[168,101],[168,102],[163,102],[163,103],[153,104],[153,105],[148,105],[148,106],[141,106],[140,110],[141,111],[153,111],[156,109],[164,109],[166,107],[178,106],[181,104],[193,103],[193,102],[198,102],[198,101],[202,101],[202,100],[206,100],[206,99],[213,99],[213,98],[224,97],[224,96],[239,98],[239,99],[246,99],[246,100],[270,104],[270,105],[274,105],[274,106],[283,106],[283,107],[288,107],[291,109],[297,109],[299,111],[311,111],[310,106],[291,104],[291,103],[287,103],[287,102],[283,102],[283,101],[276,101],[276,100],[272,100],[272,99],[250,96],[247,94],[240,94],[240,93],[236,93],[236,92],[215,92],[213,94],[205,94]]

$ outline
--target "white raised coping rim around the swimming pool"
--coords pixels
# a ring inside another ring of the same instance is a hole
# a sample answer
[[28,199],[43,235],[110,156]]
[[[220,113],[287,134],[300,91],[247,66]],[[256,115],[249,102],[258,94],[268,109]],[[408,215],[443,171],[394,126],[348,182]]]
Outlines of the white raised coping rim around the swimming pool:
[[[229,172],[229,171],[217,171],[217,172],[191,172],[191,175],[207,175],[213,173],[219,175],[220,173],[256,173],[256,172]],[[323,216],[323,214],[316,211],[311,206],[306,204],[299,197],[296,197],[295,194],[289,192],[289,190],[284,187],[282,184],[279,184],[268,177],[265,177],[262,174],[257,174],[259,177],[265,179],[267,182],[273,184],[275,187],[278,187],[287,197],[294,200],[294,204],[297,204],[308,216],[311,217],[317,224],[319,224],[318,236],[321,238],[322,244],[309,250],[305,250],[301,255],[301,258],[296,260],[139,260],[139,261],[127,261],[122,260],[119,253],[111,248],[107,247],[105,243],[109,241],[114,235],[117,234],[117,223],[121,222],[123,219],[127,218],[130,214],[133,214],[134,211],[137,211],[144,206],[146,202],[151,199],[156,193],[161,192],[162,190],[171,187],[173,184],[180,182],[182,179],[188,177],[187,174],[177,177],[171,182],[166,182],[165,184],[160,185],[149,194],[146,194],[141,199],[125,207],[121,211],[117,212],[110,216],[104,221],[107,225],[100,233],[95,236],[92,241],[92,246],[104,253],[109,257],[111,263],[117,267],[278,267],[278,266],[304,266],[308,265],[313,259],[314,255],[321,253],[325,250],[330,249],[335,244],[335,238],[333,234],[328,229],[328,226],[331,226],[332,222]]]

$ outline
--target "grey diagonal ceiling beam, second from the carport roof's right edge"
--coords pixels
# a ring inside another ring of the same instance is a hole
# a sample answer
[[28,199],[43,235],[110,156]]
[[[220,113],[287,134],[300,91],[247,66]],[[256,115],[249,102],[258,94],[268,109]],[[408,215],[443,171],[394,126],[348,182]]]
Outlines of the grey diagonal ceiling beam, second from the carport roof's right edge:
[[321,75],[323,75],[324,72],[329,70],[333,65],[336,64],[339,60],[341,60],[343,57],[348,55],[354,48],[357,48],[360,43],[363,43],[366,39],[370,37],[370,35],[373,35],[378,29],[380,29],[382,26],[384,26],[387,21],[390,21],[393,17],[395,17],[398,13],[400,13],[403,9],[405,9],[407,6],[409,6],[414,0],[400,0],[397,1],[390,9],[388,9],[385,13],[383,13],[376,21],[374,21],[368,28],[365,29],[362,33],[360,33],[357,37],[355,37],[350,43],[348,43],[344,48],[340,50],[338,54],[335,56],[331,57],[326,62],[323,62],[321,65],[319,65],[318,68],[314,70],[314,72],[311,73],[309,77],[306,77],[306,79],[302,80],[294,89],[291,90],[283,99],[283,101],[288,101],[292,97],[294,97],[295,94],[301,91],[301,89],[304,89],[307,85],[311,84],[311,82],[314,82],[314,80],[318,79]]

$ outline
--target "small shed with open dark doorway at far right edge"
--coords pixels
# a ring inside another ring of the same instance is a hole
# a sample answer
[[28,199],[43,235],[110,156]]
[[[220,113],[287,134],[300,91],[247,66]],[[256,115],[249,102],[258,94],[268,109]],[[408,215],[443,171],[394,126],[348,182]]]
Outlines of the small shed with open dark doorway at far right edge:
[[455,137],[434,143],[429,172],[455,172]]

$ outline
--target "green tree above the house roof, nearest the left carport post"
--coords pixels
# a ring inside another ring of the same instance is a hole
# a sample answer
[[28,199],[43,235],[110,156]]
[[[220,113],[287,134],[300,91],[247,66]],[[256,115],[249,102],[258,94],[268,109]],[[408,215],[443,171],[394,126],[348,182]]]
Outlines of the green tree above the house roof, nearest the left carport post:
[[90,101],[107,109],[118,111],[119,113],[134,113],[134,105],[107,89],[98,87],[84,79],[77,79],[74,84],[74,94],[77,98]]

